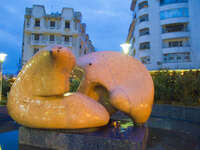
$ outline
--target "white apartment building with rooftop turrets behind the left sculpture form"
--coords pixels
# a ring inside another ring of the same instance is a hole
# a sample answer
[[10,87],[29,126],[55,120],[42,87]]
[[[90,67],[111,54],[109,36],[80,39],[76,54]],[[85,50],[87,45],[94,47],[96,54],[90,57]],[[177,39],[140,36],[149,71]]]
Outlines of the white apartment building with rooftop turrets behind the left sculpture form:
[[48,45],[63,45],[76,57],[95,51],[81,13],[63,8],[61,13],[47,14],[44,6],[26,8],[22,45],[22,65]]

